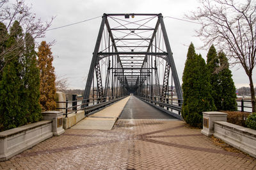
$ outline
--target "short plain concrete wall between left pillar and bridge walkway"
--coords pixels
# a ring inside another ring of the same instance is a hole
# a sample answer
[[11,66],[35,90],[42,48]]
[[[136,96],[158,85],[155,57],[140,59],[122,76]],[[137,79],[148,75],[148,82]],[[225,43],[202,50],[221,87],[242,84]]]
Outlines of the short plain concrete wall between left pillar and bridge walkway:
[[63,128],[67,129],[74,125],[77,122],[83,120],[84,118],[84,111],[77,111],[77,113],[68,114],[68,117],[63,117]]

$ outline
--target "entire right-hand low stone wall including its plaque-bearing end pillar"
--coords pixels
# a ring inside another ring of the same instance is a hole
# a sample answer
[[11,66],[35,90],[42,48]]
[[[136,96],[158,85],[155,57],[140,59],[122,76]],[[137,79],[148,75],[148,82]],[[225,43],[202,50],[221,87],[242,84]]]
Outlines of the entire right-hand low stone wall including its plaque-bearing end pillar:
[[256,130],[228,123],[225,112],[203,112],[203,115],[202,134],[214,135],[256,158]]

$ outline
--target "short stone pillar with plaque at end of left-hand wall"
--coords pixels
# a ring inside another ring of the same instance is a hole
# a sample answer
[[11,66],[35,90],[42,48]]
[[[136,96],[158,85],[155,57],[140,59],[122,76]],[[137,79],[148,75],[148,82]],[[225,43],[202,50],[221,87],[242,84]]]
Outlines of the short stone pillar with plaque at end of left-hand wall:
[[44,120],[52,120],[53,135],[61,135],[65,132],[63,129],[63,112],[46,111],[42,112]]

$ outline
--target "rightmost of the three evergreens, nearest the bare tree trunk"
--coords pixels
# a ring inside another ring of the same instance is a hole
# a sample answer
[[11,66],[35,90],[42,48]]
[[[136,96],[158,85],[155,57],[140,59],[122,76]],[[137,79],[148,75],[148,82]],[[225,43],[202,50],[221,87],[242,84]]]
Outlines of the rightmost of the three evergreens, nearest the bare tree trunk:
[[220,59],[220,86],[221,86],[221,108],[223,111],[236,111],[236,86],[232,79],[232,73],[228,68],[228,59],[224,52],[219,52]]

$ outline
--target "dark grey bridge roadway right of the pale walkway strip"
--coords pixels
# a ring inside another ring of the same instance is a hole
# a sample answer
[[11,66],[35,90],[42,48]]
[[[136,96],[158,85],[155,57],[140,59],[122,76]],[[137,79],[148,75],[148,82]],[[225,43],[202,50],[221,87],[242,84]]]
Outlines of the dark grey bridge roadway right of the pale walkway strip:
[[159,111],[156,107],[153,107],[140,99],[131,96],[125,105],[119,119],[172,119],[177,120],[173,116],[166,114],[163,111]]

